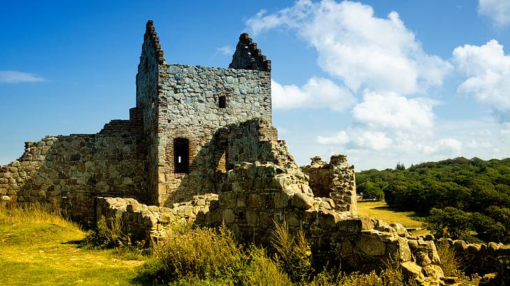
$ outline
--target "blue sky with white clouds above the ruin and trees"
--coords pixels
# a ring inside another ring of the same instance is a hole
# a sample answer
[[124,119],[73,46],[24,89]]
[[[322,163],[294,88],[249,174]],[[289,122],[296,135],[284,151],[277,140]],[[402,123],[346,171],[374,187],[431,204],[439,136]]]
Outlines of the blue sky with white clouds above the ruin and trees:
[[249,33],[300,165],[509,157],[510,0],[0,0],[0,165],[128,119],[147,20],[168,63],[227,67]]

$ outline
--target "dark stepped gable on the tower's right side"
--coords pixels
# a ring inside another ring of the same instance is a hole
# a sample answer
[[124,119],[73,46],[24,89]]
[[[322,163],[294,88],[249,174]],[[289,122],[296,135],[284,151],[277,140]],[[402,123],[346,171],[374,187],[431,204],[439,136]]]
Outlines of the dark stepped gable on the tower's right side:
[[257,44],[249,38],[247,33],[239,36],[239,43],[235,47],[232,62],[228,68],[242,68],[245,70],[271,71],[271,61],[266,59]]

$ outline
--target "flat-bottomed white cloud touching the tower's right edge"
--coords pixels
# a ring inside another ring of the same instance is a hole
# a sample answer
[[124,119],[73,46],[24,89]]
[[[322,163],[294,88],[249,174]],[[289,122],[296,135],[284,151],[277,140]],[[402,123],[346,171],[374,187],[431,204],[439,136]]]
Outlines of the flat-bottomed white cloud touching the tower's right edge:
[[282,85],[271,80],[271,93],[275,109],[328,107],[340,111],[356,103],[348,89],[321,77],[312,77],[303,86]]

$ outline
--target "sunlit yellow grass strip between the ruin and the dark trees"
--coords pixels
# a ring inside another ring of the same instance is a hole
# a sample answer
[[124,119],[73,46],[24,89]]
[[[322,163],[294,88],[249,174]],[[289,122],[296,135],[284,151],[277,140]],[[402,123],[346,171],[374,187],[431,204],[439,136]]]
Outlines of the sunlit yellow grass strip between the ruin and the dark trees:
[[[358,215],[370,216],[384,220],[387,223],[401,223],[405,227],[423,227],[423,223],[416,220],[413,211],[393,211],[386,202],[358,202]],[[418,229],[411,232],[413,235],[426,235],[427,229]]]

